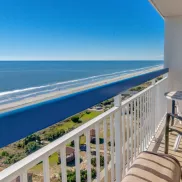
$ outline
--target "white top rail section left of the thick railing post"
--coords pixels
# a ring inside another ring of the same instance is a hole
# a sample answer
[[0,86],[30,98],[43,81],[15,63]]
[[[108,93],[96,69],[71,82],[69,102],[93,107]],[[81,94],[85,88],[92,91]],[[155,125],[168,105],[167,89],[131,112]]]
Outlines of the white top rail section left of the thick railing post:
[[101,120],[104,120],[109,115],[112,115],[113,113],[117,112],[118,109],[119,109],[118,107],[112,107],[111,109],[102,113],[96,118],[93,118],[89,122],[79,126],[76,130],[70,131],[69,133],[63,135],[61,138],[58,138],[57,140],[46,145],[45,147],[39,149],[38,151],[30,154],[26,158],[20,160],[19,162],[3,170],[2,172],[0,172],[0,181],[8,178],[10,174],[11,178],[12,176],[16,177],[18,175],[17,174],[18,171],[22,170],[27,171],[28,169],[39,163],[41,160],[43,161],[45,156],[49,157],[49,155],[52,155],[54,152],[59,151],[61,145],[69,143],[73,141],[74,138],[76,138],[77,136],[85,134],[87,131],[94,128],[94,125],[96,123],[100,122]]

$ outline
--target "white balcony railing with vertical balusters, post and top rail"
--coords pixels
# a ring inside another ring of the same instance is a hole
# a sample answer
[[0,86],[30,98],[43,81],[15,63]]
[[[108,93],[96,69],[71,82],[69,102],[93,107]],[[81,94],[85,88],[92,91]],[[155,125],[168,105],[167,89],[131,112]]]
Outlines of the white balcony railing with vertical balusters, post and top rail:
[[[43,180],[50,182],[49,156],[60,152],[60,172],[62,182],[67,181],[66,145],[75,143],[76,182],[80,182],[79,138],[86,136],[87,181],[91,182],[91,150],[96,151],[96,181],[120,182],[137,155],[148,148],[162,118],[166,113],[167,77],[147,89],[121,102],[117,95],[115,105],[110,110],[90,120],[79,128],[34,152],[0,173],[0,182],[10,182],[17,177],[27,182],[30,168],[43,162]],[[95,129],[96,144],[90,144],[90,130]],[[99,138],[103,134],[103,145]],[[108,145],[110,142],[110,145]],[[102,148],[103,147],[103,148]],[[104,168],[100,167],[100,155],[104,156]]]

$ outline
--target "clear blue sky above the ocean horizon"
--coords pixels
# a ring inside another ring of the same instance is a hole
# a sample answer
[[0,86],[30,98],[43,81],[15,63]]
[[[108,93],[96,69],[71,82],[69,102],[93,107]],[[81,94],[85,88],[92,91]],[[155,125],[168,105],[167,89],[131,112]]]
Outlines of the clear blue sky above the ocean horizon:
[[0,60],[163,59],[148,0],[1,0]]

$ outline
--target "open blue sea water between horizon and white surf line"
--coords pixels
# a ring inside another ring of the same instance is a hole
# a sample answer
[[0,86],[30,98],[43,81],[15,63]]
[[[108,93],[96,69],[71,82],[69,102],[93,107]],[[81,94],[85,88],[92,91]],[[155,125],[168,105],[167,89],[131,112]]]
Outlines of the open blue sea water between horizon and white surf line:
[[0,92],[66,83],[163,64],[163,61],[0,61]]

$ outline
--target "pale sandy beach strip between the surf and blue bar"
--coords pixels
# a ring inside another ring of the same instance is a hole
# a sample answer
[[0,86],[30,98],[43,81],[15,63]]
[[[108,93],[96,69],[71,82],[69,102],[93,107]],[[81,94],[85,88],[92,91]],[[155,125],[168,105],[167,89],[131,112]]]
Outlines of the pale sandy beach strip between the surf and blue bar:
[[53,99],[53,98],[58,98],[58,97],[61,97],[61,96],[64,96],[64,95],[79,92],[79,91],[86,90],[86,89],[89,89],[89,88],[93,88],[93,87],[96,87],[96,86],[101,86],[101,85],[104,85],[104,84],[107,84],[107,83],[112,83],[112,82],[119,81],[119,80],[122,80],[122,79],[125,79],[125,78],[129,78],[129,77],[133,77],[133,76],[136,76],[136,75],[140,75],[140,74],[148,73],[148,72],[151,72],[151,71],[155,71],[155,70],[158,70],[160,68],[161,68],[161,66],[151,68],[151,69],[147,69],[145,71],[142,70],[142,71],[137,71],[135,73],[125,74],[125,75],[122,75],[122,76],[119,76],[119,77],[116,77],[116,78],[103,80],[103,81],[98,81],[98,82],[95,82],[95,83],[92,83],[92,84],[87,84],[87,85],[76,87],[76,88],[66,89],[64,91],[56,91],[56,92],[52,92],[52,93],[48,93],[48,94],[42,94],[42,95],[39,95],[39,96],[29,97],[29,98],[23,99],[21,101],[16,101],[16,102],[0,105],[0,112],[2,113],[2,112],[6,112],[6,111],[9,111],[9,110],[16,109],[16,108],[21,108],[21,107],[24,107],[24,106],[27,106],[27,105],[32,105],[32,104],[35,104],[35,103],[50,100],[50,99]]

